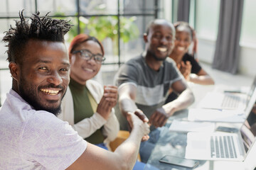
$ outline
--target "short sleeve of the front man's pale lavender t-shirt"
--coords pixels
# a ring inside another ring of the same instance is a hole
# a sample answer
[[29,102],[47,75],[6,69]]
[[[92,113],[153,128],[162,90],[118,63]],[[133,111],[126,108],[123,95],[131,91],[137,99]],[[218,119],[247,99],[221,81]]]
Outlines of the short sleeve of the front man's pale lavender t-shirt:
[[67,169],[85,151],[87,142],[51,113],[37,111],[23,125],[21,157],[46,169]]

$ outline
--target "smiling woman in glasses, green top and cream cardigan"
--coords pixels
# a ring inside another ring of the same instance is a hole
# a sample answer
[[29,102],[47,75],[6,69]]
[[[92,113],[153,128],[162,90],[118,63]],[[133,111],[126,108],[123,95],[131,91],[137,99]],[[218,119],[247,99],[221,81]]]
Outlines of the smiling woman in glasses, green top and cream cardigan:
[[68,121],[87,142],[106,149],[106,144],[117,137],[119,122],[113,109],[117,87],[102,88],[92,80],[105,60],[104,49],[96,38],[80,34],[70,43],[68,54],[70,84],[58,118]]

